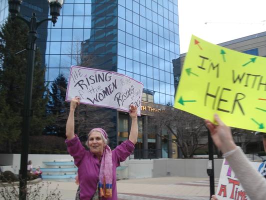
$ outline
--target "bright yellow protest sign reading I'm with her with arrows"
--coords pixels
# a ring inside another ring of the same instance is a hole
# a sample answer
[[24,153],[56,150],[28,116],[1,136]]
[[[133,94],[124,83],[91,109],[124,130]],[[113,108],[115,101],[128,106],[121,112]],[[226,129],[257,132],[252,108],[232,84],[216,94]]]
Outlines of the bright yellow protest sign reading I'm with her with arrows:
[[174,107],[229,126],[266,132],[266,58],[192,35]]

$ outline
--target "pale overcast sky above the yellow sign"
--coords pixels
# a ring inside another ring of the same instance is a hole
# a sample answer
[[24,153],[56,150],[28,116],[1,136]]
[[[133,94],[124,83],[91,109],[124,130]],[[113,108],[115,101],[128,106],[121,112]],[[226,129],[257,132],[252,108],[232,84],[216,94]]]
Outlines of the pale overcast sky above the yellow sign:
[[266,0],[178,0],[178,6],[181,53],[192,34],[217,44],[266,31]]

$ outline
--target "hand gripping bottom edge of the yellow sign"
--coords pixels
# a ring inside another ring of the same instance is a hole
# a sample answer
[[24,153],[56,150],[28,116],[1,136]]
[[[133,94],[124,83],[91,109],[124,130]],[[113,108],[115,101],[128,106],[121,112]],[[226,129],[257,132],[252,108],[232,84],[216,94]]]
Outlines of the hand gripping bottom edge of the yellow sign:
[[218,125],[213,124],[210,120],[205,120],[205,124],[211,132],[215,145],[221,149],[223,153],[235,149],[237,145],[233,140],[230,127],[224,124],[218,114],[214,115],[214,119]]

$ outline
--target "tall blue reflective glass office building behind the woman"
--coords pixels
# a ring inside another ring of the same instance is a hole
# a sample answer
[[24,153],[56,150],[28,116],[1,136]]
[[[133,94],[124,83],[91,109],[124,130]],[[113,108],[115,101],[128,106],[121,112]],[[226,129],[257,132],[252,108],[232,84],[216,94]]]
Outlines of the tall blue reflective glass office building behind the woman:
[[[48,3],[23,0],[20,10],[25,16],[36,10],[37,17],[47,17]],[[1,22],[7,12],[7,0],[0,0]],[[172,60],[180,56],[177,0],[65,0],[55,26],[48,21],[37,31],[47,82],[60,73],[68,77],[71,65],[101,68],[143,82],[145,102],[174,104]],[[119,143],[128,136],[128,115],[114,115],[120,121],[113,133]],[[139,123],[141,133],[144,116]]]

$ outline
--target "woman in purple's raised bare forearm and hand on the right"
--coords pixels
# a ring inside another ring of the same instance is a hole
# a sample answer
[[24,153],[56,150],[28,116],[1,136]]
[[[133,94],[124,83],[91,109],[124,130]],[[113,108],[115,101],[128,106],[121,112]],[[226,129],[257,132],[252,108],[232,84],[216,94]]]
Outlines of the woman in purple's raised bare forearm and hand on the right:
[[130,113],[131,117],[131,129],[129,133],[129,140],[132,141],[132,143],[137,143],[138,139],[138,108],[135,105],[130,105]]

